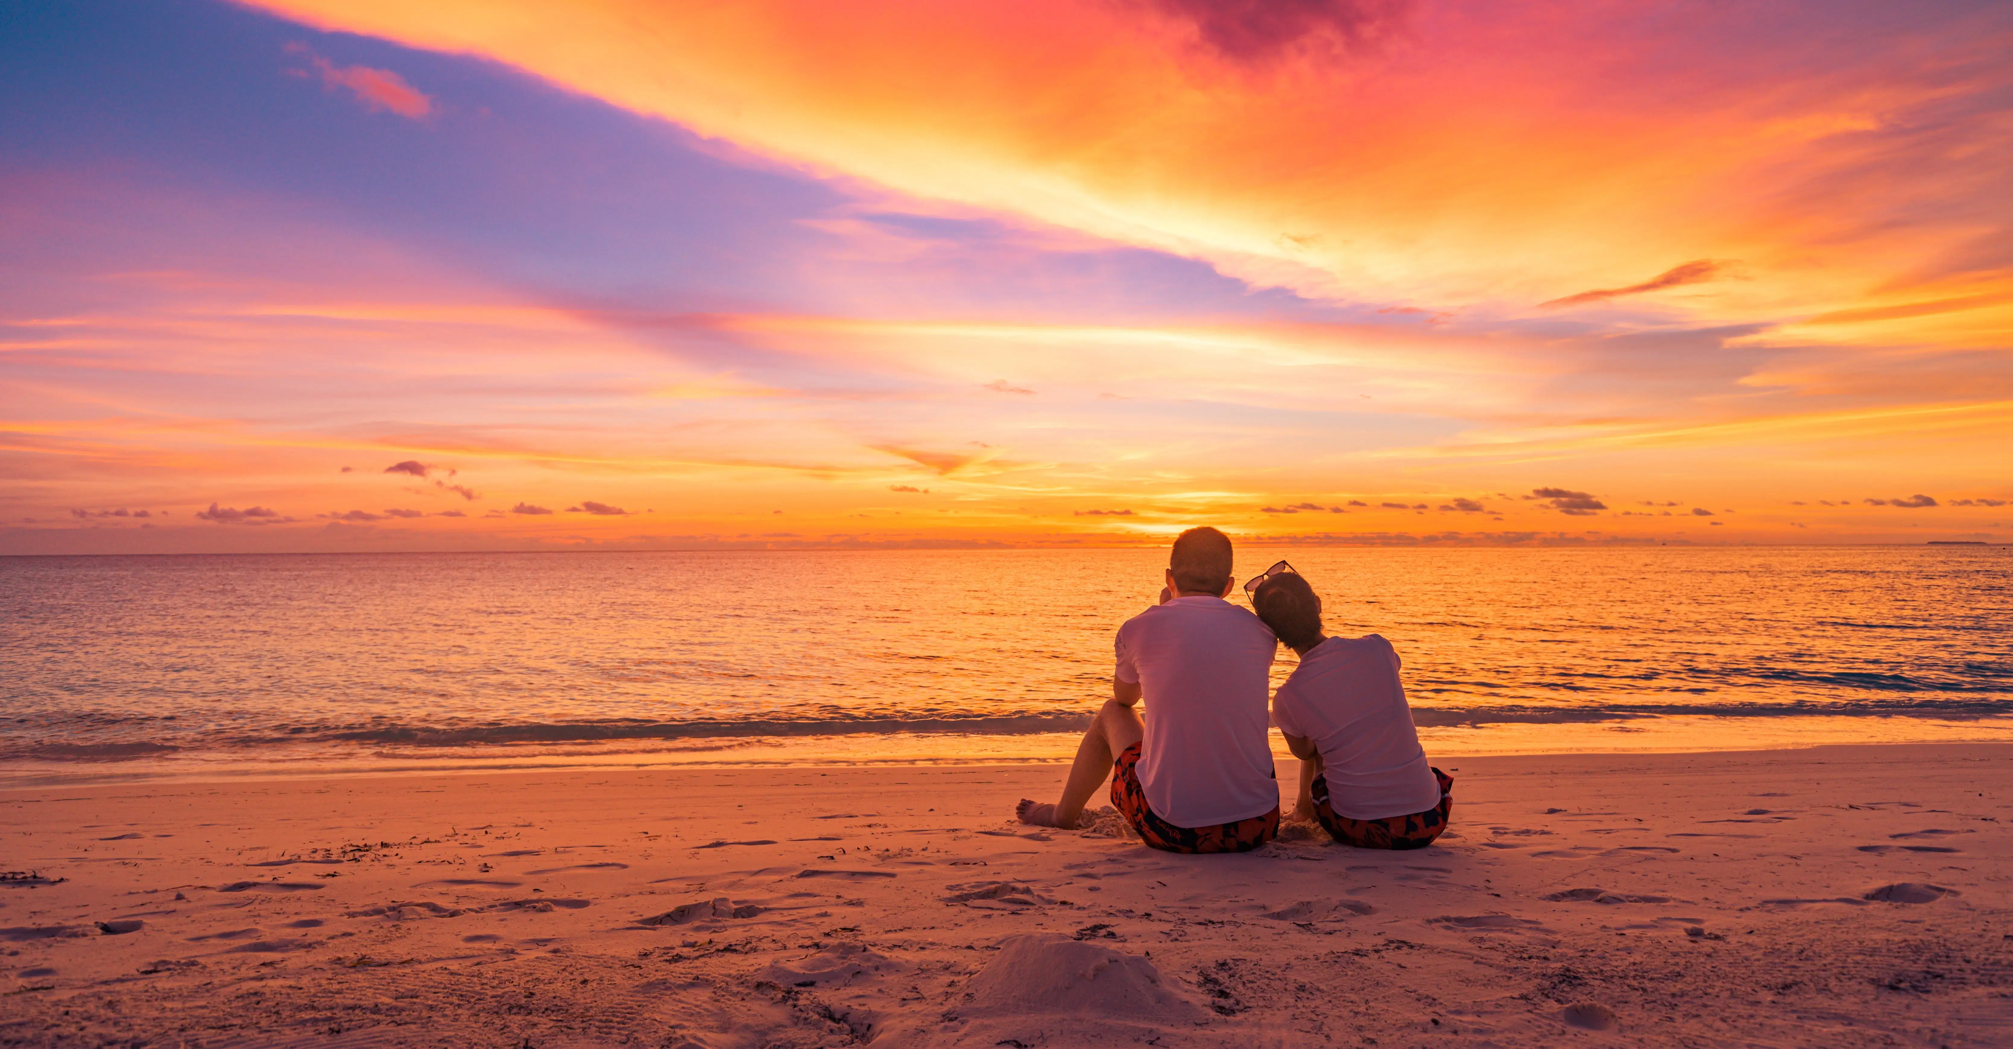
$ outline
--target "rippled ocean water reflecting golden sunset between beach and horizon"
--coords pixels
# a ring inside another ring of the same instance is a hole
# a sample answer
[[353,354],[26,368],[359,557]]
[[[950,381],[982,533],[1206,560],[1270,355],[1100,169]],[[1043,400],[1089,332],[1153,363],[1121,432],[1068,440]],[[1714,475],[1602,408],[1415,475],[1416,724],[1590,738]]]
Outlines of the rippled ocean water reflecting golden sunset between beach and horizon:
[[[1278,558],[1331,632],[1397,644],[1433,753],[2013,739],[2009,548],[1240,550],[1240,578]],[[0,558],[0,783],[1057,759],[1164,564]]]

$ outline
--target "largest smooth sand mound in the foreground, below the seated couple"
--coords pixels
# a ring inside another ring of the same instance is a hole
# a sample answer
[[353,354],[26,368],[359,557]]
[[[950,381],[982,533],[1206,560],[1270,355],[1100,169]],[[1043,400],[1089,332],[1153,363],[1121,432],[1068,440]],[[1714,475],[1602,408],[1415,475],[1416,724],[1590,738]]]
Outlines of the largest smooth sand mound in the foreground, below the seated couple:
[[1202,1009],[1162,979],[1153,962],[1057,934],[1000,940],[1000,952],[968,985],[972,1015],[1202,1019]]

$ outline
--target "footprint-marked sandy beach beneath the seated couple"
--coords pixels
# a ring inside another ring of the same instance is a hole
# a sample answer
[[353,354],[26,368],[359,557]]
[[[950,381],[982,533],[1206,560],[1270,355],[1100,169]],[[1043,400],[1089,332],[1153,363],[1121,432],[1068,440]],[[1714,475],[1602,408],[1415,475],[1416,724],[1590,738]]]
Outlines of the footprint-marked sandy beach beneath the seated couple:
[[2009,745],[1441,765],[1208,858],[1059,765],[8,791],[0,1045],[2013,1045]]

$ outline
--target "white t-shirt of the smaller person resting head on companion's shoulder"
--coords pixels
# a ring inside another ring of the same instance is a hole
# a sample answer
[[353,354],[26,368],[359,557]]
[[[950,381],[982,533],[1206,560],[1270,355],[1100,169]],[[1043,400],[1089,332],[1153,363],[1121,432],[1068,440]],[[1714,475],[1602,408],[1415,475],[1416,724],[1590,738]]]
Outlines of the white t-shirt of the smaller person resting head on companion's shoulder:
[[1272,697],[1278,731],[1321,751],[1337,815],[1389,819],[1439,803],[1397,670],[1397,650],[1377,634],[1329,638]]

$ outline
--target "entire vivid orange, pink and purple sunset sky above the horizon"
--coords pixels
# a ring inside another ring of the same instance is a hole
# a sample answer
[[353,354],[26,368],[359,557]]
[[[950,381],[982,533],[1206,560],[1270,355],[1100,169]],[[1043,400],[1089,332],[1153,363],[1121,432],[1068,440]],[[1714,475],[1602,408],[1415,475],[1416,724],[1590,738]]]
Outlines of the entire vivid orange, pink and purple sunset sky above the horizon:
[[0,554],[2013,542],[2009,52],[0,0]]

